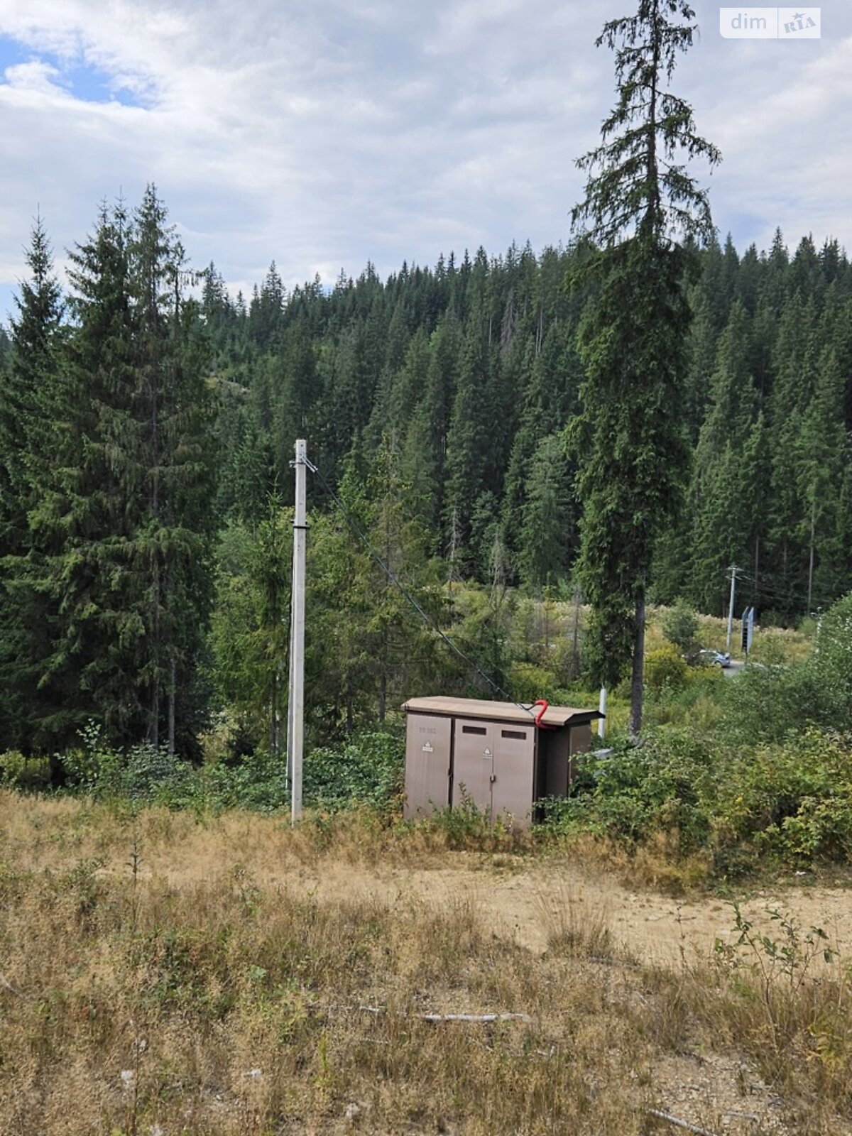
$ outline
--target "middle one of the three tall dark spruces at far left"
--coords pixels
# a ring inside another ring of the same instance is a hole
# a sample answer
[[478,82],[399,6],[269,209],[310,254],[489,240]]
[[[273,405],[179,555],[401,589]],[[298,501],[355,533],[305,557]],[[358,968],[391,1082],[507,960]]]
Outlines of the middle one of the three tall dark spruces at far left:
[[127,245],[124,208],[103,206],[93,235],[70,253],[75,326],[43,399],[53,448],[35,482],[31,528],[39,556],[31,571],[50,635],[39,678],[48,698],[34,738],[57,747],[74,744],[90,718],[116,743],[137,724],[131,676],[143,628],[123,554],[133,526],[126,486],[137,479],[127,448],[134,392]]

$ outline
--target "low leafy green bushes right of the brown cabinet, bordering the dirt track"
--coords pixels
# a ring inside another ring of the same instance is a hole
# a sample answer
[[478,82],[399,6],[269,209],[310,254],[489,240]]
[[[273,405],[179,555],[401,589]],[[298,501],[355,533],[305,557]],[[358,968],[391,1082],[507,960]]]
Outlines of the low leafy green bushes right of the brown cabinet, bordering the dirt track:
[[727,751],[674,727],[644,744],[587,754],[577,795],[549,822],[635,846],[658,834],[678,854],[705,850],[719,876],[760,858],[785,864],[852,857],[852,738],[810,729],[784,744]]

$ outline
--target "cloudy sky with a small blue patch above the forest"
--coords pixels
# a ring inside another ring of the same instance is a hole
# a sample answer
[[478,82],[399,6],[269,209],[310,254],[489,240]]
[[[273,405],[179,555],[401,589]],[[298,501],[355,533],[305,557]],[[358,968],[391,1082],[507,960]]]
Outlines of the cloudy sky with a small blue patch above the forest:
[[[852,251],[852,3],[821,39],[700,41],[673,89],[722,151],[737,247]],[[613,101],[594,40],[634,0],[0,0],[0,318],[41,211],[61,268],[98,203],[154,182],[197,266],[247,292],[569,237]],[[749,11],[746,6],[744,11]],[[751,9],[753,11],[753,8]]]

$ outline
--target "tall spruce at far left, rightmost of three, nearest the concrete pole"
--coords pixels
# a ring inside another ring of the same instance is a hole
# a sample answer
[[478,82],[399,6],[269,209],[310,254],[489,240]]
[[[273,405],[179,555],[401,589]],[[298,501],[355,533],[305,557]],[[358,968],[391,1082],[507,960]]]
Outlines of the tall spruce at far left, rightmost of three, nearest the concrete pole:
[[145,628],[139,680],[148,740],[153,746],[165,740],[174,751],[178,733],[185,745],[193,733],[212,595],[214,406],[197,306],[183,294],[183,249],[152,185],[136,210],[130,253],[136,373],[131,443],[141,477],[130,557]]

